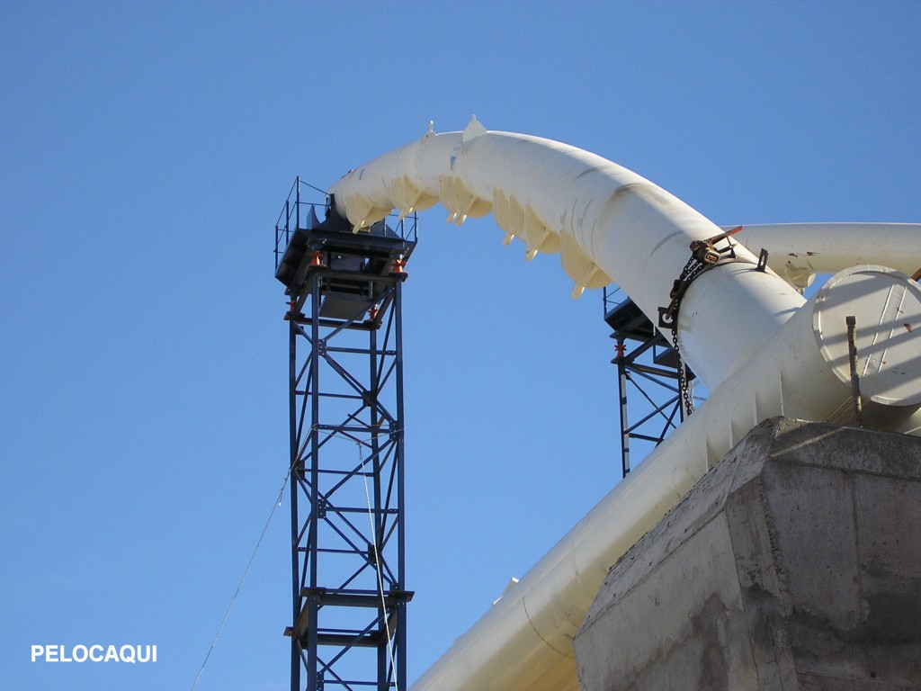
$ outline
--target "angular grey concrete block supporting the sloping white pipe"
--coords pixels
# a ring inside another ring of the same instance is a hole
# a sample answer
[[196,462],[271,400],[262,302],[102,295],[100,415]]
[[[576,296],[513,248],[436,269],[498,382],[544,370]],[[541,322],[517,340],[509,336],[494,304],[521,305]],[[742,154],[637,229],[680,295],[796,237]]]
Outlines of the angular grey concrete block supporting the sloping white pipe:
[[611,570],[582,691],[921,689],[921,439],[775,418]]

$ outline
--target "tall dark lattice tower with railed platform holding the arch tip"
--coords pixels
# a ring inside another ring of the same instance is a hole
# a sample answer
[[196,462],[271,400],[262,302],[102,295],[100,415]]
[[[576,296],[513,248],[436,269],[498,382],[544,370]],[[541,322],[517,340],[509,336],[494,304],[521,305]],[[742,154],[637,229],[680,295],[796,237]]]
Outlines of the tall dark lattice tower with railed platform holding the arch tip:
[[402,282],[415,217],[352,232],[295,182],[275,226],[289,310],[291,690],[406,687]]

